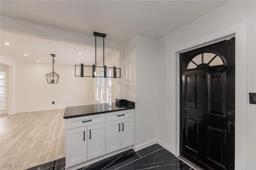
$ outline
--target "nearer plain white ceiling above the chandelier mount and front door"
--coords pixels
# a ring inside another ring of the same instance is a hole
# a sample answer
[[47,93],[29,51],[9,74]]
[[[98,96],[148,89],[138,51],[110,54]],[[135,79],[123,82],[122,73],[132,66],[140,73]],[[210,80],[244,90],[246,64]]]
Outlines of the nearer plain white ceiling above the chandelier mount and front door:
[[222,0],[1,0],[1,16],[127,42],[140,35],[158,39],[227,1]]

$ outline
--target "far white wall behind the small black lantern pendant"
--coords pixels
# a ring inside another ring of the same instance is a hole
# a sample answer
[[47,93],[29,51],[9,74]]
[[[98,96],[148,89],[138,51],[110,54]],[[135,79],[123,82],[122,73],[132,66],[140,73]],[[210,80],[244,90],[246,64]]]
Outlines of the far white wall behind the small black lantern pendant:
[[17,113],[92,104],[93,78],[75,77],[74,65],[58,65],[56,61],[54,71],[60,76],[59,83],[48,84],[46,74],[51,71],[52,64],[16,61]]

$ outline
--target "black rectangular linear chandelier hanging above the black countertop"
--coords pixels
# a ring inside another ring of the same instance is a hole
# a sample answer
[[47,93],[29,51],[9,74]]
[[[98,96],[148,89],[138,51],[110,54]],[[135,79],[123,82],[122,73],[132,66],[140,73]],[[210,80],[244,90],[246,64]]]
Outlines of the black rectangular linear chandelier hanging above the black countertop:
[[[84,65],[81,63],[81,65],[75,65],[75,76],[76,77],[104,77],[104,78],[120,78],[121,76],[121,68],[117,67],[106,67],[104,62],[104,38],[106,37],[106,34],[94,32],[93,34],[95,36],[95,64],[93,65]],[[96,49],[96,38],[102,37],[103,38],[103,67],[97,66],[97,49]],[[80,69],[79,69],[80,67]],[[102,74],[96,74],[97,71],[100,71]],[[108,74],[107,74],[108,71]],[[80,73],[80,75],[79,75]],[[113,74],[112,74],[113,73]],[[119,74],[117,74],[119,73]]]

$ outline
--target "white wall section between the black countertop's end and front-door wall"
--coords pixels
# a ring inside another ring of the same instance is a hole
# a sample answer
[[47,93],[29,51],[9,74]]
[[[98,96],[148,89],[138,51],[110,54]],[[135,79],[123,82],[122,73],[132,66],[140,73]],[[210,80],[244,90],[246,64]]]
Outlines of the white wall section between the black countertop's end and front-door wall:
[[156,143],[159,108],[156,40],[134,36],[125,46],[125,99],[136,101],[135,149]]

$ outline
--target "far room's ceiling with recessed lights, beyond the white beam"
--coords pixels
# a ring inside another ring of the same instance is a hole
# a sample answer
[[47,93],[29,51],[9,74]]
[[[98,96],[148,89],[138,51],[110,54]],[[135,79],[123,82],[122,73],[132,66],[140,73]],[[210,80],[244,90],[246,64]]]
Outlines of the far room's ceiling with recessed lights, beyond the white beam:
[[[7,57],[15,61],[52,63],[50,54],[55,54],[56,64],[95,64],[95,47],[75,45],[3,31],[1,31],[1,42],[11,43],[11,45],[1,43],[1,57]],[[107,56],[113,51],[112,49],[105,48],[104,55]],[[82,52],[82,54],[78,54],[78,52]],[[28,56],[24,56],[23,54],[28,54]],[[80,59],[80,61],[77,61],[77,59]],[[97,46],[97,62],[102,59],[102,47]]]

